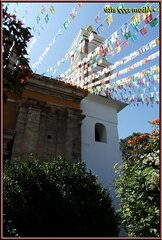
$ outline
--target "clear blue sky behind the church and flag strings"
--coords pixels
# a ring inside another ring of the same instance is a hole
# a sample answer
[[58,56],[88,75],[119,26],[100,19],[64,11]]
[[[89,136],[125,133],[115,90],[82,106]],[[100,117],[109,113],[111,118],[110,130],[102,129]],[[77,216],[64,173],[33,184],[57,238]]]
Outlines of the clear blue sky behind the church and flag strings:
[[[146,2],[142,3],[124,3],[126,8],[139,8],[142,7]],[[111,7],[118,7],[119,3],[108,3]],[[152,4],[152,3],[151,3]],[[6,4],[5,4],[6,5]],[[68,49],[70,48],[74,38],[78,34],[80,28],[86,28],[88,25],[92,25],[94,30],[103,23],[103,32],[101,36],[109,38],[116,30],[120,29],[122,24],[125,22],[129,23],[129,19],[132,17],[132,13],[129,14],[119,14],[113,13],[113,22],[110,26],[106,24],[106,14],[103,10],[106,3],[84,3],[82,7],[78,8],[77,16],[68,26],[68,28],[63,32],[62,35],[58,36],[56,42],[51,47],[50,51],[43,58],[42,63],[38,66],[37,72],[39,74],[46,73],[47,69],[55,65],[61,58],[65,56]],[[54,7],[54,13],[52,14],[49,8]],[[9,12],[17,15],[18,19],[23,19],[25,26],[31,27],[32,35],[37,37],[36,43],[33,45],[33,48],[29,54],[30,65],[32,66],[40,57],[40,55],[47,48],[51,40],[56,36],[58,30],[63,26],[66,19],[69,17],[72,9],[77,6],[77,3],[9,3]],[[152,5],[152,7],[155,5]],[[44,9],[44,13],[41,14],[41,9]],[[49,21],[46,23],[44,18],[48,14]],[[100,23],[95,22],[96,16],[99,14],[101,19]],[[154,17],[159,15],[159,12],[156,11],[153,13]],[[39,24],[37,23],[37,17],[40,17]],[[33,31],[35,28],[36,31]],[[40,36],[38,36],[38,30],[40,29]],[[130,41],[127,48],[122,48],[119,54],[116,54],[113,57],[110,57],[110,62],[115,63],[115,61],[122,59],[123,57],[129,55],[131,52],[139,49],[141,46],[149,43],[151,40],[159,37],[159,25],[151,28],[147,26],[148,33],[144,36],[137,34],[137,41]],[[29,43],[29,48],[32,43]],[[118,67],[118,70],[123,69],[133,63],[143,59],[144,57],[149,56],[150,54],[158,51],[158,46],[154,49],[145,52],[142,56],[136,57],[134,60],[125,64],[124,67]],[[64,73],[69,67],[70,61],[67,61],[64,64],[61,64],[56,72],[55,76],[58,76],[61,73]],[[142,71],[145,68],[148,68],[152,65],[158,65],[158,59],[151,61],[150,63],[145,64],[142,67],[139,67],[131,71],[131,74]],[[35,70],[35,69],[33,69]],[[45,74],[47,76],[47,73]],[[123,77],[123,76],[122,76]],[[125,75],[124,75],[125,77]],[[121,78],[121,77],[120,77]],[[118,129],[119,137],[124,138],[132,134],[133,132],[148,132],[151,130],[151,126],[148,121],[156,119],[159,117],[159,105],[154,104],[153,106],[146,106],[140,104],[139,106],[127,106],[118,114]]]

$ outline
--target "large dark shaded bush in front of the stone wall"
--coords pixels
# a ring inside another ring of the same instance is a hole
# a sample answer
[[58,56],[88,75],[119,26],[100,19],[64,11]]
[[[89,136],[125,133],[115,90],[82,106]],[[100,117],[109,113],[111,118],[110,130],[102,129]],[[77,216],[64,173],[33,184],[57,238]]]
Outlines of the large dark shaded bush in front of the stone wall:
[[5,162],[4,217],[5,236],[118,235],[108,192],[84,162],[61,157]]

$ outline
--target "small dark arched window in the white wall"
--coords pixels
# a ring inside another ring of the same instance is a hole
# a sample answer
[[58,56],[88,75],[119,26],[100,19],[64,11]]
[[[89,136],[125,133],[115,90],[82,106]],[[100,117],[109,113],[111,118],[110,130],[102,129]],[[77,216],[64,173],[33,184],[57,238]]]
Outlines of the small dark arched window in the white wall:
[[95,124],[95,141],[107,143],[106,128],[102,123]]

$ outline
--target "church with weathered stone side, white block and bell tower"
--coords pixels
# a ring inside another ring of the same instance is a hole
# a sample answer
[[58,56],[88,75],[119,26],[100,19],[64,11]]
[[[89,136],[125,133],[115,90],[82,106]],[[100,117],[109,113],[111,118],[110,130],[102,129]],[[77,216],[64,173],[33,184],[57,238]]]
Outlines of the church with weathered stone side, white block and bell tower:
[[[83,49],[72,56],[73,65],[103,42],[96,33],[89,41],[85,30],[80,31],[77,39],[80,36]],[[97,66],[94,71],[108,64]],[[77,71],[74,68],[76,81],[84,83],[87,72],[82,67],[81,74]],[[27,81],[21,96],[7,95],[3,109],[4,156],[9,154],[10,146],[11,159],[33,153],[40,160],[60,155],[67,161],[83,160],[105,188],[113,189],[113,166],[121,162],[117,113],[126,107],[125,103],[39,74],[33,74]]]

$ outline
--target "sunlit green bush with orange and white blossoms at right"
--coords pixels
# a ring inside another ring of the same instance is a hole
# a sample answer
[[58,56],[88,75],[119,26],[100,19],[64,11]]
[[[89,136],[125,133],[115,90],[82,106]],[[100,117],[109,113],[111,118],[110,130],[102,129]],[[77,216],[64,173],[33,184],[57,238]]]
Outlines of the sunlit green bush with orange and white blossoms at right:
[[114,166],[121,223],[134,237],[157,237],[160,232],[159,121],[151,124],[156,128],[150,134],[121,140],[123,165]]

